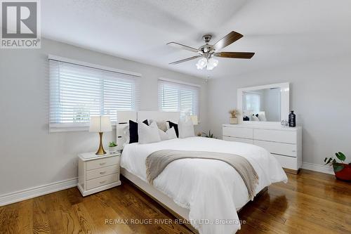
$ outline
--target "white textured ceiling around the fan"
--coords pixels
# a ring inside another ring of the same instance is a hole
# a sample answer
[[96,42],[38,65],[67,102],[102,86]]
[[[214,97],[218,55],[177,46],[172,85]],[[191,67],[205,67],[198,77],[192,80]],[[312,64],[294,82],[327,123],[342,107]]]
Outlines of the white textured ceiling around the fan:
[[[232,77],[250,70],[351,55],[350,0],[45,0],[42,35],[122,58],[198,77]],[[201,36],[213,44],[230,31],[244,37],[222,51],[256,52],[251,60],[218,58],[212,71],[196,55],[166,46],[198,48]]]

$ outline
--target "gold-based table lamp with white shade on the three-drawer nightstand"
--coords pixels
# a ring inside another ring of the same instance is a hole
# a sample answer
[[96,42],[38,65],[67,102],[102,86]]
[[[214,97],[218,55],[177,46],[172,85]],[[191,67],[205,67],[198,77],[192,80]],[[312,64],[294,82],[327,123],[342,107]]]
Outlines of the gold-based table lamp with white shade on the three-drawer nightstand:
[[105,155],[106,152],[102,146],[102,134],[105,131],[112,131],[111,120],[108,116],[91,116],[90,117],[90,132],[97,132],[100,136],[100,145],[98,152],[95,155]]

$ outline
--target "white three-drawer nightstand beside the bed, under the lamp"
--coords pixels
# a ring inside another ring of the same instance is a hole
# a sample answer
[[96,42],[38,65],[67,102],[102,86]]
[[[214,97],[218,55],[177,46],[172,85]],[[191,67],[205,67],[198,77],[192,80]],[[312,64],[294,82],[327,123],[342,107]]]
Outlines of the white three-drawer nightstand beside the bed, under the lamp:
[[91,195],[102,190],[119,186],[119,157],[121,154],[113,153],[95,155],[87,152],[78,155],[78,188],[81,195]]

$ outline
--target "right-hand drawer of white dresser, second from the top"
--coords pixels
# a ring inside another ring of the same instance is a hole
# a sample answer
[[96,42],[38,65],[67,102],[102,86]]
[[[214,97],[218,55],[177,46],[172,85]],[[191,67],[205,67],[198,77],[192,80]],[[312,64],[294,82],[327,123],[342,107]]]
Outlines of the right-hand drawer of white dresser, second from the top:
[[269,152],[278,155],[288,155],[291,157],[297,157],[297,145],[286,144],[286,143],[278,143],[272,141],[253,141],[254,145],[258,145],[262,148],[265,148]]

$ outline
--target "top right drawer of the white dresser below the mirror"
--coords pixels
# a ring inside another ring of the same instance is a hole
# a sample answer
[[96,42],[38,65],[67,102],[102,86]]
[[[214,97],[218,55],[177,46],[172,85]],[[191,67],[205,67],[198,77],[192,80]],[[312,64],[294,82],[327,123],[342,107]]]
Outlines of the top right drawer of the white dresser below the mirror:
[[253,139],[296,144],[296,131],[254,129]]

